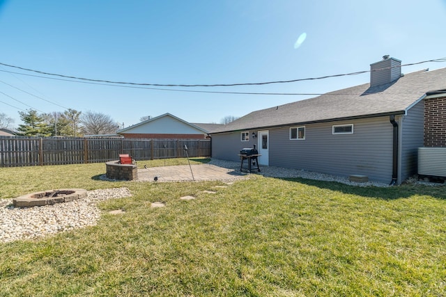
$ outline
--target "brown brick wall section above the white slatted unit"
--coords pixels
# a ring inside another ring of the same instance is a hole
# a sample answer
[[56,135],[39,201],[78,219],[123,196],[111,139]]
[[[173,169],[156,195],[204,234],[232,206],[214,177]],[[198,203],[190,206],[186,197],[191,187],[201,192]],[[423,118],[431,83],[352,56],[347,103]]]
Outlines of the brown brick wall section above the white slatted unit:
[[446,147],[446,97],[424,99],[424,146]]

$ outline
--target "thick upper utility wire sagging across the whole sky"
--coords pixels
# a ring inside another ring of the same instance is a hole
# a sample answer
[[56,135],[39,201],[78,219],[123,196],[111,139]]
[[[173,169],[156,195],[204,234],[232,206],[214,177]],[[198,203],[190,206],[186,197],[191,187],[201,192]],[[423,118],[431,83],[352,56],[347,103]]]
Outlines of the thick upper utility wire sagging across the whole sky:
[[[410,65],[418,65],[418,64],[422,64],[422,63],[429,63],[429,62],[446,62],[446,58],[438,58],[438,59],[433,59],[433,60],[427,60],[427,61],[421,61],[421,62],[417,62],[417,63],[409,63],[409,64],[404,64],[404,65],[399,65],[399,66],[394,66],[394,67],[404,67],[404,66],[410,66]],[[187,85],[187,84],[161,84],[161,83],[133,83],[133,82],[124,82],[124,81],[107,81],[107,80],[102,80],[102,79],[87,79],[84,77],[70,77],[68,75],[63,75],[63,74],[54,74],[54,73],[49,73],[49,72],[43,72],[40,70],[32,70],[29,68],[24,68],[24,67],[19,67],[19,66],[14,66],[14,65],[8,65],[5,63],[0,63],[0,65],[6,66],[6,67],[13,67],[13,68],[17,68],[20,70],[25,70],[25,71],[29,71],[29,72],[36,72],[39,74],[45,74],[45,75],[50,75],[50,76],[54,76],[54,77],[64,77],[67,79],[78,79],[81,81],[95,81],[95,82],[100,82],[100,83],[116,83],[116,84],[125,84],[125,85],[134,85],[134,86],[163,86],[163,87],[226,87],[226,86],[261,86],[261,85],[267,85],[267,84],[272,84],[272,83],[293,83],[296,81],[310,81],[310,80],[316,80],[316,79],[328,79],[331,77],[345,77],[345,76],[350,76],[350,75],[357,75],[357,74],[363,74],[363,73],[367,73],[367,72],[371,72],[371,70],[364,70],[364,71],[359,71],[359,72],[351,72],[351,73],[346,73],[346,74],[334,74],[334,75],[326,75],[324,77],[312,77],[312,78],[307,78],[307,79],[291,79],[289,81],[266,81],[266,82],[260,82],[260,83],[220,83],[220,84],[195,84],[195,85]],[[381,69],[377,69],[374,71],[378,71],[378,70],[385,70],[385,69],[390,69],[390,68],[394,68],[394,67],[386,67],[386,68],[381,68]]]

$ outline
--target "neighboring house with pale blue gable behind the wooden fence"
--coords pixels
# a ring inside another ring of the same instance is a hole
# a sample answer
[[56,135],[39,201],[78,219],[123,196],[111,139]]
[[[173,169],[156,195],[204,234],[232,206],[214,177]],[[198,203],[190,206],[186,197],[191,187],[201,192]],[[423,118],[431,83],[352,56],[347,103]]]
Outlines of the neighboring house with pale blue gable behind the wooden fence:
[[177,118],[170,113],[140,122],[117,131],[124,138],[205,139],[208,131]]

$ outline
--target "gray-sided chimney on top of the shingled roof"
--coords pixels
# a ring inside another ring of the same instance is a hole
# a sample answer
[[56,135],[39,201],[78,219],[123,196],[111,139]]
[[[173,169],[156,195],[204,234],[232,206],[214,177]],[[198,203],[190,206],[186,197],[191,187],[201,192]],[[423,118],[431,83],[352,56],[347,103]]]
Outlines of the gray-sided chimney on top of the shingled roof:
[[391,83],[401,77],[401,61],[383,56],[383,60],[370,64],[370,87]]

